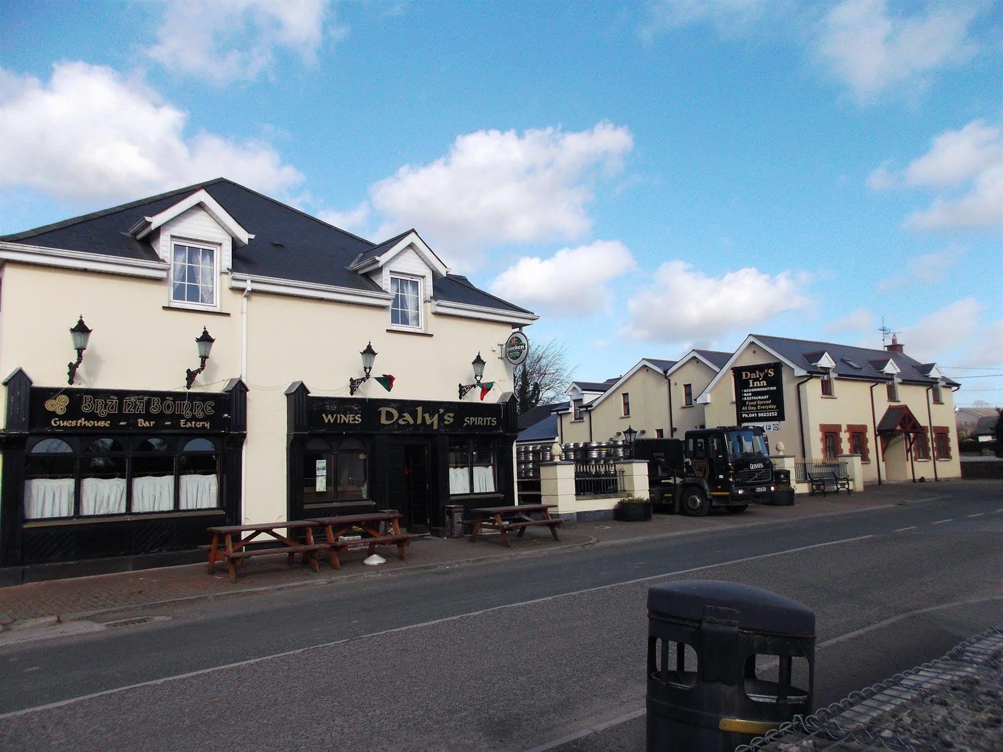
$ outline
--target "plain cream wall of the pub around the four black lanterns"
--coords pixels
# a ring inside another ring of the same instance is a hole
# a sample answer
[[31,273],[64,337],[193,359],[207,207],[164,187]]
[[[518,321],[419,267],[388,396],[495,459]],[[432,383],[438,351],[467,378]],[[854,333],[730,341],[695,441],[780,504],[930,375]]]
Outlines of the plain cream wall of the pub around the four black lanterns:
[[[75,386],[184,390],[185,370],[198,366],[195,338],[204,326],[216,338],[193,392],[219,391],[241,376],[242,290],[221,277],[220,310],[163,310],[166,282],[7,263],[3,268],[0,376],[21,367],[38,386],[66,383],[74,359],[69,328],[83,315],[93,334]],[[497,357],[508,324],[433,314],[425,303],[426,332],[387,332],[388,308],[267,293],[248,299],[248,438],[246,506],[250,521],[286,514],[286,387],[303,381],[316,395],[348,396],[348,379],[362,375],[359,351],[369,340],[379,353],[373,375],[393,374],[398,399],[457,399],[457,384],[471,383],[470,361],[479,350],[485,401],[512,391],[512,367]],[[386,397],[374,381],[356,396]],[[466,395],[477,401],[479,390]],[[0,420],[6,415],[0,410]]]

